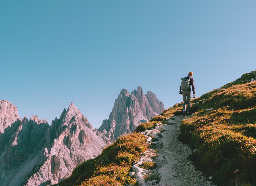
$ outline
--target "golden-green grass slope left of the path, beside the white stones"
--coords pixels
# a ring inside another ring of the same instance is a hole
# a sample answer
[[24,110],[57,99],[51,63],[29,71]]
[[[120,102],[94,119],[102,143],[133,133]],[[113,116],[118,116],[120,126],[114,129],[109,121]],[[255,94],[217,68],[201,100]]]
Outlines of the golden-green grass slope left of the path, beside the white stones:
[[120,137],[115,143],[104,148],[94,159],[89,159],[79,165],[72,175],[56,184],[60,186],[81,185],[124,185],[136,184],[128,173],[132,163],[140,154],[147,150],[147,137],[140,133],[131,133]]

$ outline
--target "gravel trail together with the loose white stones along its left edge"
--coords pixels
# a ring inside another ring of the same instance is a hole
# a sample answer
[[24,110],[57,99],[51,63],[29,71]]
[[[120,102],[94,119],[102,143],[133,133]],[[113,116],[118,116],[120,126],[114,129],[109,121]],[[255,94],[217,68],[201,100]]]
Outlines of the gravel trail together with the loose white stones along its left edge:
[[[133,172],[130,172],[130,176],[133,176],[139,185],[214,185],[210,181],[211,177],[204,177],[202,172],[196,170],[193,163],[188,160],[188,156],[193,153],[189,145],[178,140],[182,119],[184,116],[174,116],[167,119],[165,125],[158,123],[154,130],[141,132],[149,137],[147,143],[153,144],[154,148],[146,151],[133,165]],[[145,161],[153,161],[158,168],[154,170],[140,168]],[[131,186],[131,184],[129,185]]]

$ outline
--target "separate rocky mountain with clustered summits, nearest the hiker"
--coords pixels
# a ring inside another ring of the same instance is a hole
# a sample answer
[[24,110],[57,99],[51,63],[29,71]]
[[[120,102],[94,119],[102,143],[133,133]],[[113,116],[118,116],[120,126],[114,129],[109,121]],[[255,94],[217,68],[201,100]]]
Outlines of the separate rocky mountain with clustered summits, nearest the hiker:
[[119,136],[133,132],[138,125],[151,120],[163,110],[163,102],[152,92],[145,95],[141,86],[131,94],[123,89],[115,100],[109,119],[102,122],[99,131],[113,142]]

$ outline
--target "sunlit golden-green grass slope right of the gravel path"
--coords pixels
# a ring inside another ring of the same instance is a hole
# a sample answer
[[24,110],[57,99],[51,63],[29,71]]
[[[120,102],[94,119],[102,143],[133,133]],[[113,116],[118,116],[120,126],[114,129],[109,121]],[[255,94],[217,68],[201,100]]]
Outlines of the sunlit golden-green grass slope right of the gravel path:
[[217,185],[254,185],[256,180],[256,81],[248,82],[255,73],[194,99],[193,117],[180,126],[179,138],[198,149],[191,158]]

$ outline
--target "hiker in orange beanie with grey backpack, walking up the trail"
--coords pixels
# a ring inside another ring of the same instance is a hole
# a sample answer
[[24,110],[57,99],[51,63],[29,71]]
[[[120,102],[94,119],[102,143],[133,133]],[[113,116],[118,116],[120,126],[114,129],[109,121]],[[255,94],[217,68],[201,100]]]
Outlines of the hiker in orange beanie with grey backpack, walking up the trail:
[[190,115],[190,99],[191,99],[191,87],[193,91],[193,98],[196,97],[195,95],[195,82],[192,78],[193,72],[189,72],[187,77],[182,78],[182,83],[179,87],[179,94],[183,96],[183,116],[186,116],[186,104],[188,104],[187,108],[187,115]]

